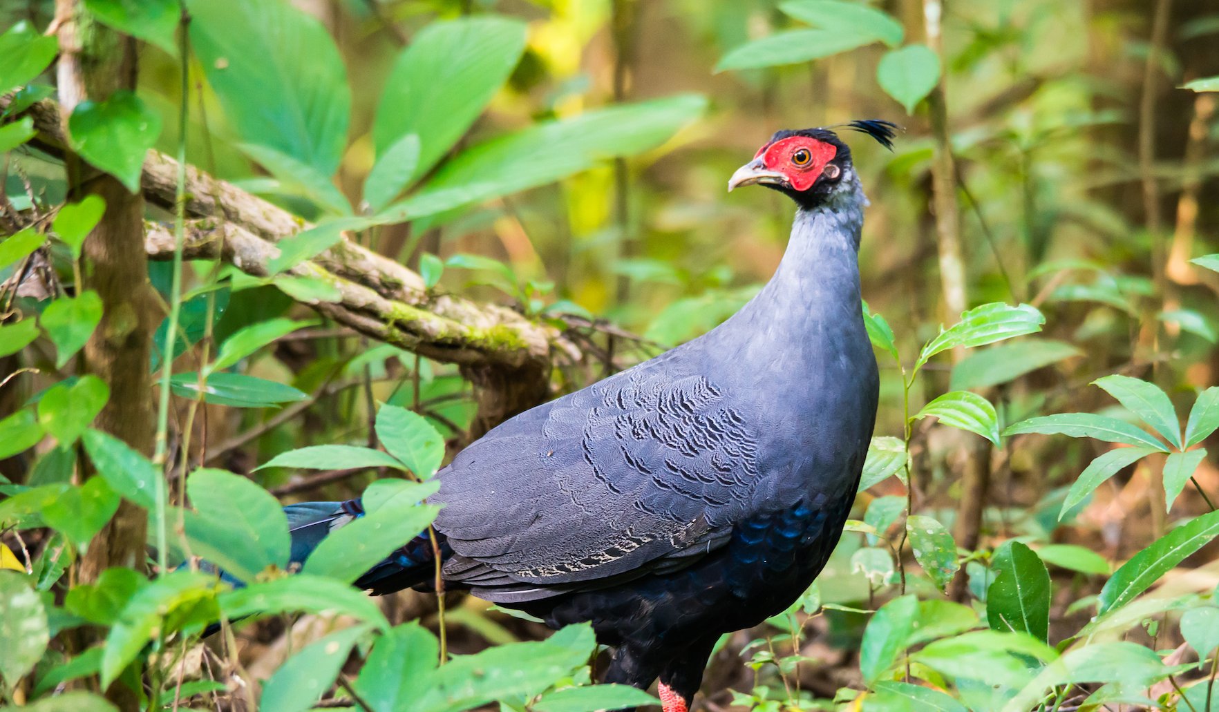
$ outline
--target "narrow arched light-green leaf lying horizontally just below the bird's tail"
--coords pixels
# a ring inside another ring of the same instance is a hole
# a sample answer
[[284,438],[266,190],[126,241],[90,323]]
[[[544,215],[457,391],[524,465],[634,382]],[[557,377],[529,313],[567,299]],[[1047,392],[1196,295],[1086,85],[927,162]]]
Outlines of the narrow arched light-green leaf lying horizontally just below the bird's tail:
[[219,602],[224,616],[230,619],[290,611],[334,611],[373,623],[382,630],[389,629],[380,607],[362,591],[341,582],[307,573],[250,584],[221,594]]

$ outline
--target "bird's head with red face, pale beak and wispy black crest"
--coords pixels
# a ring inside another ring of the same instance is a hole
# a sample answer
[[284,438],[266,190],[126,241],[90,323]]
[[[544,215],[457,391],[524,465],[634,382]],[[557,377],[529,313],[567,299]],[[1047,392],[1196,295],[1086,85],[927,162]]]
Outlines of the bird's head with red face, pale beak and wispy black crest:
[[[886,149],[894,148],[897,126],[887,121],[852,121],[837,126],[865,133]],[[802,207],[817,207],[833,195],[853,193],[858,187],[851,149],[829,128],[781,130],[770,137],[752,161],[733,173],[728,190],[755,184],[785,193]]]

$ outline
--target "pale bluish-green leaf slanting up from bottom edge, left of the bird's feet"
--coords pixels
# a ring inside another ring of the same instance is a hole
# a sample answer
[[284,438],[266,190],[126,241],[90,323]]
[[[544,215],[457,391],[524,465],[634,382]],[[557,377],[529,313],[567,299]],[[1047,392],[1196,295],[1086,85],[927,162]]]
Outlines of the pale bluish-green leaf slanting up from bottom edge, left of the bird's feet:
[[352,646],[366,633],[367,625],[356,625],[306,645],[267,680],[262,688],[260,707],[277,712],[304,712],[312,708],[322,692],[334,684]]

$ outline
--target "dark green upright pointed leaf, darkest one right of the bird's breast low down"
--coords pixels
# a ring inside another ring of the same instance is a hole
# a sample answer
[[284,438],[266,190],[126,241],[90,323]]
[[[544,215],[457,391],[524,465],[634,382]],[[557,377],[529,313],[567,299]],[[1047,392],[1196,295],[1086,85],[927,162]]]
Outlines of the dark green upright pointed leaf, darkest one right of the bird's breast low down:
[[1012,556],[986,591],[986,619],[993,630],[1050,639],[1050,572],[1037,555],[1012,541]]

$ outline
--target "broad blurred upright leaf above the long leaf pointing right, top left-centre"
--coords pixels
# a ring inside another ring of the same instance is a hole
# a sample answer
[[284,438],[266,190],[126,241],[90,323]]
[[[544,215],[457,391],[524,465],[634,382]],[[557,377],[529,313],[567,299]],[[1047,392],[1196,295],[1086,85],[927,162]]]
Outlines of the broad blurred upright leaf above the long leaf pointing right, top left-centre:
[[425,173],[474,123],[524,49],[524,23],[494,15],[433,22],[419,30],[385,82],[373,121],[377,155],[386,156],[402,137],[416,134],[419,156],[412,174]]

